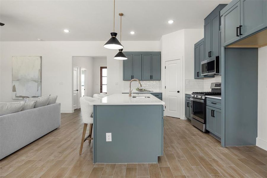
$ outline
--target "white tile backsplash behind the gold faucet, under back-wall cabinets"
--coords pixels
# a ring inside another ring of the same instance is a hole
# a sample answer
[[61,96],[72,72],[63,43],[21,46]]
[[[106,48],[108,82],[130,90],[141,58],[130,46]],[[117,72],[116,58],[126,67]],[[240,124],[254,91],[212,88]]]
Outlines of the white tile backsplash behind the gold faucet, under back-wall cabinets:
[[[123,81],[123,90],[128,91],[129,90],[129,82],[130,81]],[[142,84],[142,88],[145,88],[146,90],[151,90],[151,91],[162,91],[162,81],[140,81]],[[138,88],[138,82],[137,81],[132,81],[132,89],[135,90]]]

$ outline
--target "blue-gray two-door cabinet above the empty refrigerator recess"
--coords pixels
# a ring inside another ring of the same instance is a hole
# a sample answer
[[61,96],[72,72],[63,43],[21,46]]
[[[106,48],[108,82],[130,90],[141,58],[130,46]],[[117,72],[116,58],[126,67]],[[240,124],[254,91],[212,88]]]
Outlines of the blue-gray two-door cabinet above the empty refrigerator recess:
[[223,47],[267,27],[266,0],[234,0],[221,12]]

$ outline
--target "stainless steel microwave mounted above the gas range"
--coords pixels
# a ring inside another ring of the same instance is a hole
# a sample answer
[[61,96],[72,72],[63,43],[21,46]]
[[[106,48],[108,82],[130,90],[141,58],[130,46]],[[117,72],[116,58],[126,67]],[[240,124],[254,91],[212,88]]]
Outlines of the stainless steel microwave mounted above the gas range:
[[201,62],[201,75],[219,75],[219,56]]

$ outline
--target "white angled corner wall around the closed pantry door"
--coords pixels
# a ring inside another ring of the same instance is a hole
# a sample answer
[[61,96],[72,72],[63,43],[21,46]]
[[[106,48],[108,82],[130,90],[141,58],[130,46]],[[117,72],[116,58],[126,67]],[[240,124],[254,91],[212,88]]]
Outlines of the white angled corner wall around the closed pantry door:
[[[162,97],[165,101],[165,62],[180,59],[183,65],[182,81],[180,84],[181,102],[180,118],[185,117],[185,79],[194,80],[194,44],[204,36],[203,29],[183,29],[163,35],[162,45]],[[203,81],[202,81],[203,82]]]

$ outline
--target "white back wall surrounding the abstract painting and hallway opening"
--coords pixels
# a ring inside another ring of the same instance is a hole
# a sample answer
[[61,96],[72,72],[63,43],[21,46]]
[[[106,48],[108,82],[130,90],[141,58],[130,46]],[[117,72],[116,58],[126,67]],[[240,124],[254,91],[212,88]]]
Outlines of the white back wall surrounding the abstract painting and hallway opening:
[[[159,51],[159,41],[125,41],[124,51]],[[121,93],[122,61],[113,59],[117,50],[105,42],[0,42],[1,101],[12,102],[12,56],[42,56],[42,95],[58,95],[62,112],[72,112],[72,56],[106,56],[108,93]],[[62,82],[63,85],[59,85]]]

